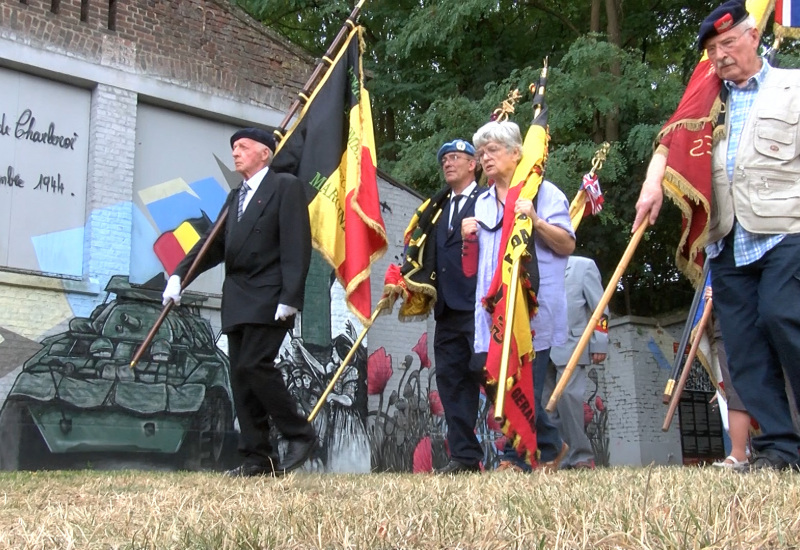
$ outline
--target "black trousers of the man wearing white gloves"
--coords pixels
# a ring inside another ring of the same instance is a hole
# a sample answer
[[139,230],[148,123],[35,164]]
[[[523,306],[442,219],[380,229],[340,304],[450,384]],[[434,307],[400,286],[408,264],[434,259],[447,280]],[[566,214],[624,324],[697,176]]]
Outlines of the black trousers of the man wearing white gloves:
[[277,460],[277,450],[270,443],[270,421],[284,439],[316,437],[275,366],[286,332],[270,325],[239,325],[228,333],[231,387],[241,431],[239,453],[247,462]]

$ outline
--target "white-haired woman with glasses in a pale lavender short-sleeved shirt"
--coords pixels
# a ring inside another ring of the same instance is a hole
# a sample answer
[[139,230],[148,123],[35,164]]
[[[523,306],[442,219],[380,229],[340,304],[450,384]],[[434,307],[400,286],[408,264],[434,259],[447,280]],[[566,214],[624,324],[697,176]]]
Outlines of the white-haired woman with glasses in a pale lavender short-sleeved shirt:
[[[497,268],[503,211],[511,178],[522,159],[522,135],[514,122],[489,122],[473,136],[477,157],[490,187],[475,203],[475,217],[462,222],[464,236],[478,235],[478,280],[475,296],[475,353],[489,349],[492,317],[483,308],[486,295]],[[534,399],[536,401],[537,444],[539,464],[545,470],[555,470],[566,456],[569,447],[547,416],[542,401],[550,348],[567,340],[567,299],[564,274],[567,257],[575,250],[575,232],[569,217],[567,197],[558,187],[542,181],[534,200],[517,199],[515,213],[524,213],[533,222],[534,244],[539,266],[539,312],[531,321],[534,333]],[[525,469],[513,449],[506,449],[500,468]]]

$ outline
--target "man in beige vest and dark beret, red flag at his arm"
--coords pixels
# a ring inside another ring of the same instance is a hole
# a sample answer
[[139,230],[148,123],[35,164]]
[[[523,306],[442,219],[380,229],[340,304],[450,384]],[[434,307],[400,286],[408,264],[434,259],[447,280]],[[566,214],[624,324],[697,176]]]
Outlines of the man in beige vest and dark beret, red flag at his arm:
[[[662,181],[676,201],[675,187],[696,197],[702,209],[691,210],[693,216],[707,223],[695,234],[710,259],[731,380],[761,427],[749,469],[798,469],[800,435],[787,382],[800,397],[800,71],[771,67],[757,53],[759,40],[741,1],[725,2],[703,21],[697,43],[713,72],[692,77],[695,93],[684,95],[676,111],[686,116],[673,115],[662,130],[634,230],[658,217]],[[703,134],[684,122],[703,122],[692,115],[692,101],[714,86],[719,93],[709,95]],[[700,146],[681,145],[691,143],[681,132],[692,131]]]

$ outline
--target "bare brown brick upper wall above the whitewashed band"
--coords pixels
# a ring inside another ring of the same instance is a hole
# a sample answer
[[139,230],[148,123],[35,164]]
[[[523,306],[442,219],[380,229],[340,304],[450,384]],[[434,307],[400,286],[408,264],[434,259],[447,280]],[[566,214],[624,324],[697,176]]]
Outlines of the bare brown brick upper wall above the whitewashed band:
[[2,0],[0,37],[280,111],[310,74],[306,54],[231,1],[113,4],[88,0],[82,20],[80,0]]

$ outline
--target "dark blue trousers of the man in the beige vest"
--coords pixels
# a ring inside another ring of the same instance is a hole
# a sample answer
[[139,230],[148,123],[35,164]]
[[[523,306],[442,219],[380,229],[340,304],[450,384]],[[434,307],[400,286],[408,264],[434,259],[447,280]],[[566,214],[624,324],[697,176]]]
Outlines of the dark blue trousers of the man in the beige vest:
[[[754,451],[800,462],[786,381],[800,397],[800,234],[787,235],[757,262],[736,267],[733,242],[711,260],[731,381],[761,426]],[[784,371],[786,378],[784,378]]]

